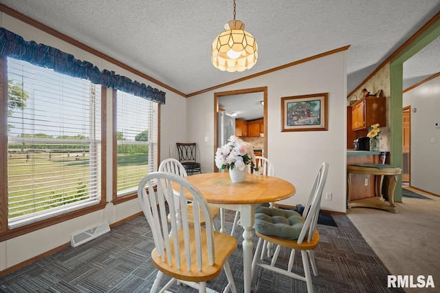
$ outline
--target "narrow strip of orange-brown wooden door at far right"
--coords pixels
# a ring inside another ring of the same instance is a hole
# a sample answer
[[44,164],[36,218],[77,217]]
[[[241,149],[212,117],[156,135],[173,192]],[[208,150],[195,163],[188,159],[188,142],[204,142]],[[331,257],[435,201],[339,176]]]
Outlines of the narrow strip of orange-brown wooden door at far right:
[[402,174],[401,182],[410,185],[411,171],[411,106],[402,110]]

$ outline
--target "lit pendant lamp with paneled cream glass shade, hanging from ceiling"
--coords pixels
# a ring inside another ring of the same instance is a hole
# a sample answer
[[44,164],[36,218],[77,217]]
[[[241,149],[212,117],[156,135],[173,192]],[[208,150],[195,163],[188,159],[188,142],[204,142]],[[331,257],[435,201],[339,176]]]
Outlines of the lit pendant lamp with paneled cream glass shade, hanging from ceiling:
[[254,36],[245,32],[245,25],[234,19],[225,24],[221,32],[212,42],[212,65],[221,71],[242,72],[251,69],[259,58],[258,46]]

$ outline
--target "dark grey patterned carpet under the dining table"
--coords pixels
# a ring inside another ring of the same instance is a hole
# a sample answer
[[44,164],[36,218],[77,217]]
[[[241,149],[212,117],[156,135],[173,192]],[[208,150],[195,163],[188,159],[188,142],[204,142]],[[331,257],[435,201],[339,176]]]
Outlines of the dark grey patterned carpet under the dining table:
[[[230,230],[234,213],[226,212]],[[320,243],[315,250],[319,276],[313,276],[315,292],[403,292],[386,287],[388,270],[345,215],[331,215],[338,224],[318,225]],[[242,229],[237,229],[240,237]],[[256,245],[254,237],[254,246]],[[136,217],[111,232],[76,248],[67,248],[0,278],[0,292],[149,292],[156,270],[149,261],[154,243],[146,219]],[[280,253],[278,265],[287,266],[289,252]],[[302,272],[296,255],[294,271]],[[237,291],[243,292],[241,246],[230,257]],[[208,282],[221,292],[222,272]],[[195,292],[173,285],[173,292]],[[253,292],[307,292],[305,282],[257,268]]]

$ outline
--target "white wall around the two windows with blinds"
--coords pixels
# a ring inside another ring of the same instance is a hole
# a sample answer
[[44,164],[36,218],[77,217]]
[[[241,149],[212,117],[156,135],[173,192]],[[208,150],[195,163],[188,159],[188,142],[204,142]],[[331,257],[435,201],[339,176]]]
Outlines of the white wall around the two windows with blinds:
[[[175,144],[177,140],[186,140],[186,98],[183,98],[168,89],[164,89],[155,83],[151,83],[149,80],[135,76],[131,72],[128,72],[108,61],[94,56],[88,52],[80,50],[78,47],[74,47],[69,43],[54,38],[50,34],[46,34],[41,30],[37,30],[30,25],[22,23],[21,21],[10,17],[8,14],[0,13],[0,25],[15,34],[23,36],[26,41],[36,41],[37,43],[43,43],[56,47],[63,52],[73,54],[75,58],[88,61],[96,65],[100,70],[109,69],[116,74],[126,76],[132,80],[137,80],[140,83],[151,85],[162,91],[166,92],[166,105],[161,106],[161,160],[168,158],[169,144]],[[117,40],[115,40],[117,41]],[[60,224],[56,224],[41,230],[30,232],[26,235],[8,239],[0,242],[0,271],[10,268],[13,265],[17,265],[23,261],[36,257],[39,254],[43,254],[49,250],[62,246],[65,243],[69,243],[70,235],[74,232],[84,230],[94,224],[98,224],[101,221],[109,221],[110,224],[115,223],[130,217],[135,213],[140,212],[137,199],[133,199],[129,202],[113,205],[111,203],[111,182],[112,182],[112,144],[111,144],[111,131],[112,131],[112,116],[111,116],[111,89],[107,91],[107,206],[104,210],[98,210],[94,213],[76,217],[69,221],[65,221]]]

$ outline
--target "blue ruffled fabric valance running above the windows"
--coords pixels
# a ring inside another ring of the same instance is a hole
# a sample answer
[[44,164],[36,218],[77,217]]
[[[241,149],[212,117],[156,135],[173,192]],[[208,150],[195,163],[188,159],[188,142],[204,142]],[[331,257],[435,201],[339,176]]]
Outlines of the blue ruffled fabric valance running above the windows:
[[138,83],[107,69],[76,59],[73,55],[54,47],[25,41],[23,37],[0,28],[0,55],[27,61],[33,65],[54,69],[61,74],[90,80],[97,85],[120,89],[128,94],[165,104],[165,92],[144,83]]

